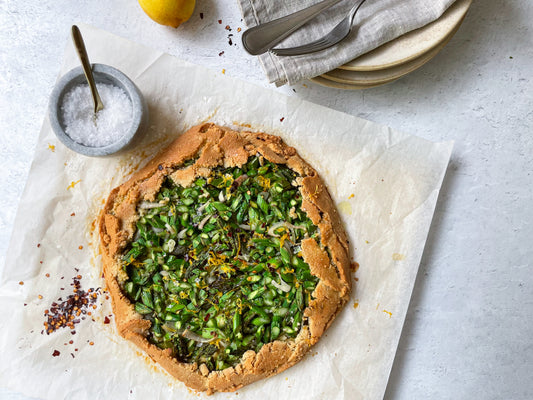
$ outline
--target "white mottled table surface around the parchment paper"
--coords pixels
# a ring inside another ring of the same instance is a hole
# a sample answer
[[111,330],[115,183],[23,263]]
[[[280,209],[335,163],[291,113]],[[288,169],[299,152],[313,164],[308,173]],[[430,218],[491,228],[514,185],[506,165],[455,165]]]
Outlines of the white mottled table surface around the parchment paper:
[[[429,140],[456,141],[387,400],[533,398],[531,21],[530,0],[474,1],[444,50],[397,82],[364,91],[310,82],[272,87]],[[0,269],[77,22],[270,86],[242,49],[235,0],[198,0],[178,30],[153,23],[132,0],[0,0]],[[0,399],[27,398],[0,389]]]

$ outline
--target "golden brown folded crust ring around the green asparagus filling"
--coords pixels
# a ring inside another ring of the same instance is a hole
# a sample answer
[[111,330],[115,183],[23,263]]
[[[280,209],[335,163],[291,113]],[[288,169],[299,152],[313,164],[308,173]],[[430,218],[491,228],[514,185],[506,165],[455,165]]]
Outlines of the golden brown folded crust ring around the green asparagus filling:
[[[135,312],[120,288],[126,279],[120,257],[135,232],[137,204],[143,200],[154,201],[166,176],[177,184],[188,186],[199,176],[207,177],[213,168],[240,167],[248,157],[257,154],[271,162],[286,164],[300,175],[297,183],[303,198],[302,209],[320,229],[320,243],[312,238],[304,239],[302,254],[311,273],[320,280],[295,339],[265,344],[258,353],[247,351],[235,367],[209,371],[205,364],[180,362],[172,357],[170,349],[161,350],[148,342],[144,335],[150,321]],[[193,165],[177,169],[191,159],[196,159]],[[277,136],[236,132],[210,123],[195,126],[130,180],[113,189],[99,222],[104,276],[119,334],[195,390],[209,394],[234,391],[293,366],[318,341],[350,294],[348,241],[335,205],[317,172]]]

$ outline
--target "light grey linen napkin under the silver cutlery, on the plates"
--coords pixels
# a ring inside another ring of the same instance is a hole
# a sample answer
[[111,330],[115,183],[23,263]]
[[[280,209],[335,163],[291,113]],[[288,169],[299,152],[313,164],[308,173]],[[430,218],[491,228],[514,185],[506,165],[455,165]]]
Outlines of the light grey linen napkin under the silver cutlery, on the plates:
[[[238,0],[250,28],[309,7],[318,0]],[[343,0],[325,10],[276,47],[294,47],[326,35],[359,0]],[[339,44],[311,54],[278,57],[261,54],[270,83],[294,84],[331,71],[409,31],[438,19],[455,0],[367,0],[359,9],[350,35]]]

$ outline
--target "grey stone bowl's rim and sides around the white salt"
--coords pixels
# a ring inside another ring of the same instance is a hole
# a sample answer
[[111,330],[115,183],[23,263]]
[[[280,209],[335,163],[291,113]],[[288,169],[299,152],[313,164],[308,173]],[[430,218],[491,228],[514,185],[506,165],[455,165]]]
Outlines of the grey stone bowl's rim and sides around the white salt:
[[52,129],[57,138],[65,146],[85,156],[99,157],[117,153],[126,149],[132,143],[133,138],[148,125],[148,106],[146,105],[146,101],[139,88],[135,86],[130,78],[118,69],[104,64],[92,65],[92,71],[96,83],[115,85],[124,90],[130,98],[133,112],[129,131],[115,143],[102,147],[85,146],[75,142],[65,133],[65,125],[61,116],[61,104],[63,103],[63,97],[72,89],[72,87],[87,83],[81,67],[70,70],[59,79],[50,96],[50,106],[48,111]]

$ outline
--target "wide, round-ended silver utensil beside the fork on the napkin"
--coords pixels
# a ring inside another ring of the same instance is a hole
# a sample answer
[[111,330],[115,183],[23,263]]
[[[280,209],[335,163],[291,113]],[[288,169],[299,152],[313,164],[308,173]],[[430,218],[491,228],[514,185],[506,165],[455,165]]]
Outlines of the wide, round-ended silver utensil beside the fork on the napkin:
[[242,44],[251,55],[267,52],[306,22],[341,0],[324,0],[303,10],[254,26],[242,34]]

